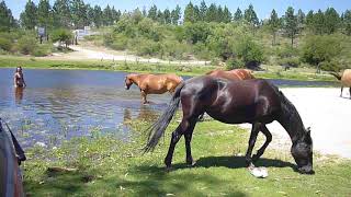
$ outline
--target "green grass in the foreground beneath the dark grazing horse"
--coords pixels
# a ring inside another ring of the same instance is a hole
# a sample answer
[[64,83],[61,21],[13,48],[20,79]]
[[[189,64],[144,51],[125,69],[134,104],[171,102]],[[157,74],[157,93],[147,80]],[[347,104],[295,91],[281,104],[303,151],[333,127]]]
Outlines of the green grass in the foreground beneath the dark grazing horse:
[[[260,166],[269,177],[254,178],[245,167],[247,130],[218,121],[199,123],[192,141],[196,166],[184,164],[184,141],[176,148],[173,170],[163,169],[172,121],[165,141],[154,153],[141,155],[143,130],[133,121],[131,141],[113,136],[76,138],[53,150],[32,148],[24,164],[24,186],[30,196],[350,196],[351,161],[314,158],[315,175],[301,175],[288,150],[268,149]],[[262,137],[257,148],[262,142]],[[316,154],[315,154],[316,155]],[[48,172],[49,166],[76,172]]]

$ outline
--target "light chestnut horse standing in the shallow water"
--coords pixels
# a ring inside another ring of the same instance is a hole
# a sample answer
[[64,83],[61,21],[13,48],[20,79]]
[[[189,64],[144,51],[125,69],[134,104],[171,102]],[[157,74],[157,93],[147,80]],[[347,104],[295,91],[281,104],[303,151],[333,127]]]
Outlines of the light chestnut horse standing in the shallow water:
[[183,79],[176,74],[135,74],[131,73],[125,77],[125,89],[129,90],[134,83],[140,89],[144,104],[148,103],[147,94],[163,94],[165,92],[173,93]]

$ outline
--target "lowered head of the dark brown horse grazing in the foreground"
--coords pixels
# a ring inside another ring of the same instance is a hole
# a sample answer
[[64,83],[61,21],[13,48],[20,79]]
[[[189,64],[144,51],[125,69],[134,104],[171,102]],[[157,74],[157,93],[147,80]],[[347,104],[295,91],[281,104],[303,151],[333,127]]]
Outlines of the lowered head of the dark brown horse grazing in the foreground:
[[297,171],[303,174],[314,174],[313,170],[313,141],[310,128],[304,129],[301,138],[293,142],[292,155],[297,164]]

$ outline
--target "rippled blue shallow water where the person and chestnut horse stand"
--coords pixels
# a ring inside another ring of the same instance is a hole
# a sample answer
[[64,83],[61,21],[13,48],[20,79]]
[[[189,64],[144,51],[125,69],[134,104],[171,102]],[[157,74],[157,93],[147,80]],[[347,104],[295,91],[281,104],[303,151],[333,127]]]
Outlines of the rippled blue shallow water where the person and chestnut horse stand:
[[[124,90],[125,72],[88,70],[24,70],[27,88],[13,88],[14,69],[0,69],[0,117],[9,123],[23,147],[37,142],[58,146],[94,131],[128,139],[128,121],[155,120],[170,94],[149,95],[140,103],[139,90]],[[186,78],[185,78],[186,79]],[[330,85],[328,82],[272,80],[278,85]]]

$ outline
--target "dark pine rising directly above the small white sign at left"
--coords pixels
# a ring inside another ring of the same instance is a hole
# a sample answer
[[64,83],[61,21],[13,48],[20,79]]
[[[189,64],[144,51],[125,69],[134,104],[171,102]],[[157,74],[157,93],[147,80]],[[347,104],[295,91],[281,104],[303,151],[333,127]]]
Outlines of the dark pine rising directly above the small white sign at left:
[[41,0],[37,5],[37,22],[39,26],[52,28],[54,23],[53,10],[48,0]]

